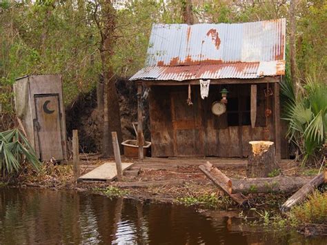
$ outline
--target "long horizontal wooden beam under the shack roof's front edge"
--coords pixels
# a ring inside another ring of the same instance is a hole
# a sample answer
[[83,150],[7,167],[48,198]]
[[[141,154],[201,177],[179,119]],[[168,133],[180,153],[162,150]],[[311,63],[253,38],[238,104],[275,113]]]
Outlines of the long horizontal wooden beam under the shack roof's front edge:
[[[280,76],[276,77],[262,77],[257,79],[211,79],[212,84],[266,84],[266,83],[279,83]],[[145,86],[182,86],[182,85],[199,85],[199,79],[175,81],[175,80],[137,80],[137,85]]]

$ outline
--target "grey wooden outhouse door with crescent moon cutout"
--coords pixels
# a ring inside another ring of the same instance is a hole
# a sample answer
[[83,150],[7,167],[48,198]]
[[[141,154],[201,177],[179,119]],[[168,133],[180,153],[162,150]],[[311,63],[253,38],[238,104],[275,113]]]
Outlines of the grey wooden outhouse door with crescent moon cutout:
[[59,95],[34,95],[37,139],[42,161],[63,159]]

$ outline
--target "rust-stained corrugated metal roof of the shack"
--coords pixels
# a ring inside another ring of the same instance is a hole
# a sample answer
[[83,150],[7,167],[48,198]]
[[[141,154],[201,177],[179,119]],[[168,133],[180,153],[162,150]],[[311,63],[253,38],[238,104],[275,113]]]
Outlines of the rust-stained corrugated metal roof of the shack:
[[156,24],[146,68],[131,80],[258,78],[285,72],[286,20]]

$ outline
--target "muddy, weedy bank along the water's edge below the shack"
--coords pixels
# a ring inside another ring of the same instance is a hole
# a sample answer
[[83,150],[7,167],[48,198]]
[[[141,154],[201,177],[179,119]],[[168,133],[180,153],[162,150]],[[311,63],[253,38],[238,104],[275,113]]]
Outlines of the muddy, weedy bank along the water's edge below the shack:
[[[84,159],[81,157],[81,159]],[[95,155],[92,157],[95,158]],[[125,199],[135,199],[143,203],[169,203],[193,206],[201,212],[210,210],[234,210],[239,214],[239,218],[244,222],[252,222],[248,219],[248,212],[255,213],[257,216],[253,225],[265,224],[265,226],[286,226],[290,223],[289,217],[279,213],[279,206],[283,204],[292,193],[288,194],[257,194],[246,195],[249,206],[238,206],[232,202],[230,197],[212,184],[212,182],[199,170],[196,159],[193,163],[183,164],[185,160],[175,159],[180,164],[158,164],[136,163],[134,167],[141,168],[137,176],[124,176],[123,182],[79,182],[75,183],[72,174],[72,166],[54,165],[50,162],[43,164],[39,173],[28,169],[19,175],[16,182],[11,185],[19,188],[46,188],[51,190],[77,190],[78,192],[98,194],[111,198],[123,197]],[[104,161],[113,159],[93,159],[81,161],[81,175],[103,164]],[[123,162],[133,162],[135,159],[123,157]],[[166,160],[167,161],[167,160]],[[172,160],[170,160],[172,161]],[[213,161],[213,160],[212,160]],[[236,162],[237,161],[237,162]],[[246,176],[246,164],[235,159],[229,162],[224,161],[224,165],[219,170],[229,177],[241,179]],[[236,164],[238,163],[238,164]],[[282,161],[281,173],[287,176],[314,175],[312,168],[300,168],[294,161]],[[17,182],[18,180],[18,182]],[[135,186],[137,183],[137,187]],[[152,183],[148,185],[148,183]],[[324,193],[324,190],[321,189]],[[261,222],[261,223],[260,223]],[[251,223],[252,224],[252,223]],[[302,224],[301,224],[302,225]],[[310,226],[304,229],[298,226],[299,231],[305,231],[307,235],[318,234]],[[320,228],[320,226],[318,226]]]

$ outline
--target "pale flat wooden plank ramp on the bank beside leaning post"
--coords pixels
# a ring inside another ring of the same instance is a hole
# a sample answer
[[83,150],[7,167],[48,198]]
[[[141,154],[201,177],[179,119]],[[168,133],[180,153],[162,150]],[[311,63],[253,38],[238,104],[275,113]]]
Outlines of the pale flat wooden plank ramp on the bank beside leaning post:
[[[121,166],[124,170],[131,168],[134,163],[132,162],[123,162]],[[89,173],[82,175],[77,179],[77,181],[103,181],[103,182],[110,182],[117,177],[117,168],[115,161],[106,162],[101,166],[93,169]]]

